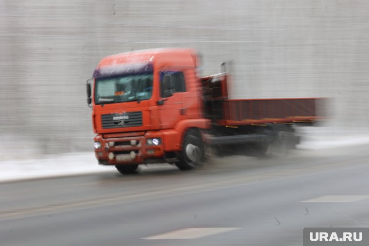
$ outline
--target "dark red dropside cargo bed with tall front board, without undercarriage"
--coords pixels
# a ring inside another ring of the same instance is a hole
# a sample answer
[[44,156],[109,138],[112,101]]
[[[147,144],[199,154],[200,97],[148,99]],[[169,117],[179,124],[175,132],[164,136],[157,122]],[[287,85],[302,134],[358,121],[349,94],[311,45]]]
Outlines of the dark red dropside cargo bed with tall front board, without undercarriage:
[[228,99],[229,74],[201,78],[205,115],[221,126],[314,122],[324,119],[327,98]]

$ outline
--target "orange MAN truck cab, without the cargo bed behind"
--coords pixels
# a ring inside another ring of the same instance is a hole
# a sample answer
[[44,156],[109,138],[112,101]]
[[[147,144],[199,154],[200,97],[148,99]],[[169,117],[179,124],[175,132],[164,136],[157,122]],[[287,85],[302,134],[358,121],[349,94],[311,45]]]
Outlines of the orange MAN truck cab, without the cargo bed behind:
[[179,162],[186,131],[209,128],[201,110],[198,66],[193,49],[103,58],[87,84],[99,164],[129,173],[138,164]]

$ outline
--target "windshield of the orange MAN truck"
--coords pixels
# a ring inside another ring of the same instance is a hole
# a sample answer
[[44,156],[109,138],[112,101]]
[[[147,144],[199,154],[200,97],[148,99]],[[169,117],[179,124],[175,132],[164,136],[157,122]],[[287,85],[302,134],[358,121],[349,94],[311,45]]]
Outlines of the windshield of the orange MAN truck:
[[95,86],[96,104],[147,100],[152,94],[152,74],[100,79]]

